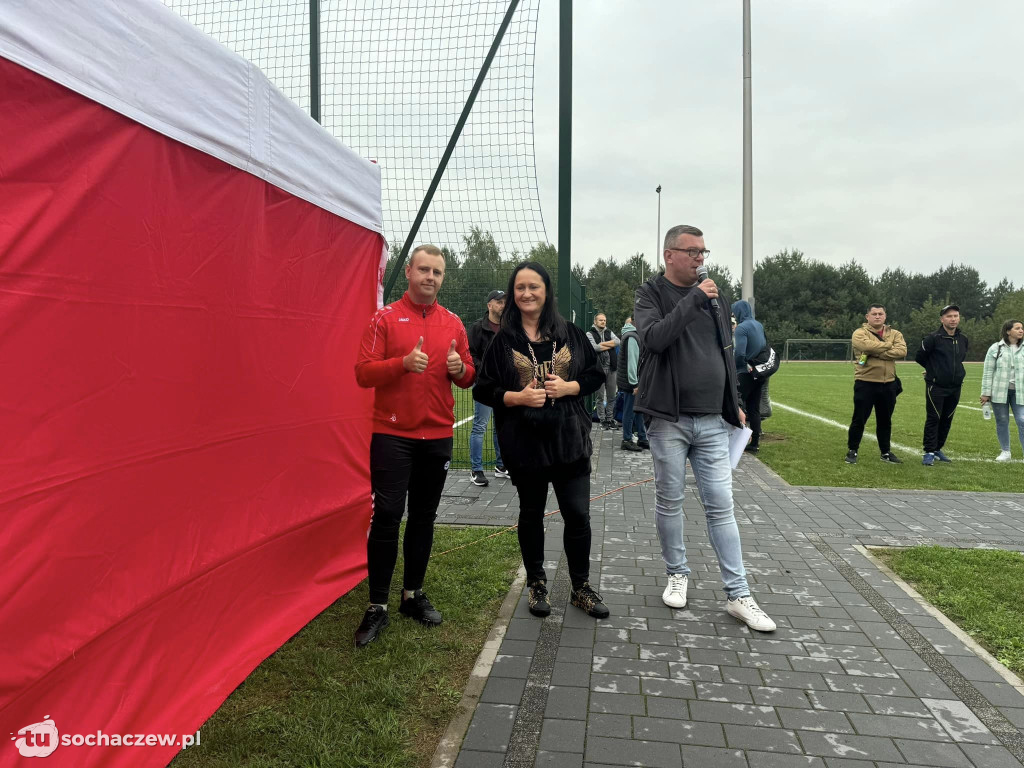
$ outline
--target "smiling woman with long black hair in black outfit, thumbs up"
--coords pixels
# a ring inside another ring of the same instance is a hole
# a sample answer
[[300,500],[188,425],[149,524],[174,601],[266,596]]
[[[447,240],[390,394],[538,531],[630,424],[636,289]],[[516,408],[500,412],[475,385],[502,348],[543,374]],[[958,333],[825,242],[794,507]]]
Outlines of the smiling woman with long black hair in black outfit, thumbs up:
[[584,396],[604,375],[587,336],[558,313],[551,278],[524,261],[509,279],[501,330],[483,353],[473,397],[495,410],[505,467],[519,494],[519,549],[529,586],[529,612],[551,612],[544,572],[544,507],[554,486],[565,522],[563,546],[570,602],[597,618],[608,615],[590,586],[591,419]]

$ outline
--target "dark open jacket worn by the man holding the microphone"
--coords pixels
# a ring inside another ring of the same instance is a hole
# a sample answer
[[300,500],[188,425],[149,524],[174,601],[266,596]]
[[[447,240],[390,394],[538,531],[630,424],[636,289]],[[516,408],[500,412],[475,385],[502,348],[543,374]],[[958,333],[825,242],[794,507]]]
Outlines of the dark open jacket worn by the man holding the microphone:
[[[708,300],[703,291],[691,291],[672,306],[672,289],[668,279],[655,274],[636,290],[633,321],[640,335],[640,393],[635,410],[647,416],[679,421],[679,392],[686,385],[687,373],[682,335],[686,326],[702,311]],[[722,418],[735,427],[739,422],[739,398],[736,392],[736,365],[732,353],[732,328],[729,322],[729,299],[719,289],[718,340],[722,343],[722,365],[726,384],[722,397]],[[671,307],[666,311],[666,307]],[[725,307],[723,310],[722,307]]]

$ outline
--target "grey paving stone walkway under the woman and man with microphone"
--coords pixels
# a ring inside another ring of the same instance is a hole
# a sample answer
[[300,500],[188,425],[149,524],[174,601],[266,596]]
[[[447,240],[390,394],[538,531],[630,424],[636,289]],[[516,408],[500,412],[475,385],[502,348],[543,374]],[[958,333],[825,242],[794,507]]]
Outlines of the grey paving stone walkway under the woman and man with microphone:
[[[744,457],[736,517],[752,589],[778,624],[765,635],[724,611],[692,478],[689,603],[662,603],[649,456],[594,434],[593,495],[640,483],[592,504],[593,581],[611,615],[567,605],[549,518],[552,615],[520,598],[457,768],[1021,768],[1024,694],[856,547],[1024,550],[1024,494],[793,487]],[[511,524],[517,510],[507,481],[453,473],[440,521]]]

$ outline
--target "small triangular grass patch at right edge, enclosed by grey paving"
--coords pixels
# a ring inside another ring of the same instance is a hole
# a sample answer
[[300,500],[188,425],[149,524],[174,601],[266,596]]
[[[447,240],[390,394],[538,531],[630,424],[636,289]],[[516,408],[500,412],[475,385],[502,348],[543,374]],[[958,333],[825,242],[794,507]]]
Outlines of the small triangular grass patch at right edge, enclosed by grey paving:
[[871,554],[1000,664],[1024,675],[1024,556],[1019,552],[913,547]]

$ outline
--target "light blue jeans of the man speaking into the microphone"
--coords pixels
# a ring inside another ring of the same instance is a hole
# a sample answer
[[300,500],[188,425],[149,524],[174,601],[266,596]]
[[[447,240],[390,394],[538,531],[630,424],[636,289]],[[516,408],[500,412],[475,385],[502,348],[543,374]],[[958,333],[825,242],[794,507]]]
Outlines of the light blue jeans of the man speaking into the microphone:
[[652,419],[647,439],[654,460],[654,513],[666,570],[690,573],[683,541],[683,492],[689,459],[708,520],[708,536],[722,570],[725,594],[730,599],[751,594],[743,569],[739,526],[732,511],[729,425],[717,414],[681,414],[676,423]]

